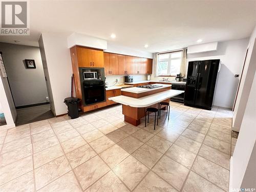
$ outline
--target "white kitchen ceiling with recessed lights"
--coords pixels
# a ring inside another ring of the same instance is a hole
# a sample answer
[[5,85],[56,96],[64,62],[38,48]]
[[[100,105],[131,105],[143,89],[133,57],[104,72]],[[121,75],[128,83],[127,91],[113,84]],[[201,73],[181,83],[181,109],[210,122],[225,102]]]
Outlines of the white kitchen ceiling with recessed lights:
[[249,37],[255,24],[256,1],[30,1],[30,36],[0,41],[38,46],[41,32],[78,32],[160,52]]

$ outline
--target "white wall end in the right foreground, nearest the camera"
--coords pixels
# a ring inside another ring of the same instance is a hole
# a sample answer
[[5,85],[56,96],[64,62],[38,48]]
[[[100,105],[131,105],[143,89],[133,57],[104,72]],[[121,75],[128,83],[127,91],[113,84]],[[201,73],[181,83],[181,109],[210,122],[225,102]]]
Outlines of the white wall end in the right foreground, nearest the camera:
[[[233,156],[230,162],[230,187],[242,188],[241,184],[246,183],[245,188],[249,188],[254,185],[255,188],[255,172],[248,172],[246,175],[246,169],[255,170],[255,161],[248,164],[250,158],[255,158],[255,154],[252,154],[253,147],[256,141],[256,73],[254,73],[253,83],[250,89],[249,98],[246,104],[243,121],[241,124],[237,144],[234,148]],[[255,150],[254,150],[254,153]],[[250,167],[248,167],[250,166]],[[252,175],[251,175],[252,174]],[[254,177],[254,179],[253,179]],[[250,186],[248,186],[250,184]]]

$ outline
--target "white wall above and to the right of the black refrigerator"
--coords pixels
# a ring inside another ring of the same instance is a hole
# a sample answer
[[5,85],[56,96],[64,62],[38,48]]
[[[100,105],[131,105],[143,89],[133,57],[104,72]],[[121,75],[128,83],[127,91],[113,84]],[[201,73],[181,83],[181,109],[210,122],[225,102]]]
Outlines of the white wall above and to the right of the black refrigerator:
[[187,54],[187,65],[188,61],[193,60],[221,59],[214,105],[232,108],[239,83],[239,78],[235,78],[234,74],[241,76],[247,45],[248,38],[223,41],[219,42],[217,51]]

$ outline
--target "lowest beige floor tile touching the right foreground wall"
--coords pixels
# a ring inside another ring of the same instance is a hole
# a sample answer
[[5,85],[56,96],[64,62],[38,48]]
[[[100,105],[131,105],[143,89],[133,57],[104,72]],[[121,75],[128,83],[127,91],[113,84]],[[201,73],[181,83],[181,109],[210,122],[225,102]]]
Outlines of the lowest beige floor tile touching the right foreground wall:
[[220,188],[228,190],[229,171],[227,169],[198,156],[192,170]]

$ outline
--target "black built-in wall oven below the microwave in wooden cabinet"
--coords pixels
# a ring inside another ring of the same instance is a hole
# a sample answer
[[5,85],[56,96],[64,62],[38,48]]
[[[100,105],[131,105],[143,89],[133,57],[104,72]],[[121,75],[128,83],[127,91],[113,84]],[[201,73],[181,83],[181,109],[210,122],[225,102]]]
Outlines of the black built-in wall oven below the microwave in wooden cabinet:
[[83,81],[83,105],[105,101],[105,86],[103,80]]

